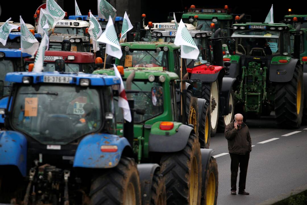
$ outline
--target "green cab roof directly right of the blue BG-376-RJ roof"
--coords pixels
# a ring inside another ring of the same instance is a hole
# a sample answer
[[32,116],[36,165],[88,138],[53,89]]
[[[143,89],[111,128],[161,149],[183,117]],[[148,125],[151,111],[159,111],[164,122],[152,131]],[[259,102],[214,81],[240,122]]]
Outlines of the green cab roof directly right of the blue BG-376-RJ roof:
[[[179,79],[178,75],[173,72],[168,71],[154,71],[154,70],[147,70],[147,69],[125,69],[124,70],[124,77],[123,79],[126,79],[132,71],[135,72],[134,80],[148,80],[150,75],[155,76],[155,79],[157,81],[160,81],[160,76],[165,77],[165,81],[169,82],[171,80],[177,80]],[[97,69],[93,72],[93,74],[104,74],[104,75],[115,75],[114,69]]]

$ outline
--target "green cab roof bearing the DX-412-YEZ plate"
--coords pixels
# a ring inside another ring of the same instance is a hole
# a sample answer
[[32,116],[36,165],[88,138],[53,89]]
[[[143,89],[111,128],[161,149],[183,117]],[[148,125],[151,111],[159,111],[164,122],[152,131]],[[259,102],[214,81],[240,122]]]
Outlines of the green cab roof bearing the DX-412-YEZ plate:
[[232,24],[232,28],[235,30],[291,30],[293,26],[284,23],[235,23]]

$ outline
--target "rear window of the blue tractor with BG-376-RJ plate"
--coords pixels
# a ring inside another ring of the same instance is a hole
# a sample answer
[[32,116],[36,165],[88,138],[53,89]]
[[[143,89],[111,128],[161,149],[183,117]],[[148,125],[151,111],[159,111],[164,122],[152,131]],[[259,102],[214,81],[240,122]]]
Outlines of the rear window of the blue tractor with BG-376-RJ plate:
[[12,125],[43,144],[67,144],[101,126],[96,89],[74,86],[21,86],[14,102]]

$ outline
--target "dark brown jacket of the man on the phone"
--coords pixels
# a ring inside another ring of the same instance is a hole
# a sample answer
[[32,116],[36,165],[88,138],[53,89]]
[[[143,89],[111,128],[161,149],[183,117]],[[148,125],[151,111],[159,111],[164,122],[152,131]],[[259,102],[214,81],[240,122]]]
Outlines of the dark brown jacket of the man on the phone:
[[225,138],[228,141],[229,153],[245,155],[247,152],[251,152],[251,135],[244,122],[237,130],[235,129],[235,120],[227,124]]

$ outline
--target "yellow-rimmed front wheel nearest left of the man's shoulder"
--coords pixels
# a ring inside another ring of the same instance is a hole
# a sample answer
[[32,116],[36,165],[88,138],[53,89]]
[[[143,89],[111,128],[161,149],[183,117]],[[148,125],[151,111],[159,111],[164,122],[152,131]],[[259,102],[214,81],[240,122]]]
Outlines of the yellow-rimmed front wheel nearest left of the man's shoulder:
[[203,114],[200,119],[198,138],[200,142],[200,148],[209,148],[211,140],[211,129],[210,129],[210,109],[209,104],[205,104]]

